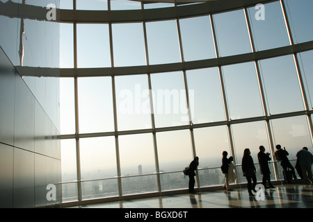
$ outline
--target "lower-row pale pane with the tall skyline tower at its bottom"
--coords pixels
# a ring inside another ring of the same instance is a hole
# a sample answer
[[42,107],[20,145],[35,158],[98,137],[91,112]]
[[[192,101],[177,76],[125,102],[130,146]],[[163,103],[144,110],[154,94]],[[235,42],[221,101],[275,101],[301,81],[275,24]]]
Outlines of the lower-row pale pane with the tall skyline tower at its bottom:
[[155,172],[152,134],[122,135],[118,137],[122,176]]

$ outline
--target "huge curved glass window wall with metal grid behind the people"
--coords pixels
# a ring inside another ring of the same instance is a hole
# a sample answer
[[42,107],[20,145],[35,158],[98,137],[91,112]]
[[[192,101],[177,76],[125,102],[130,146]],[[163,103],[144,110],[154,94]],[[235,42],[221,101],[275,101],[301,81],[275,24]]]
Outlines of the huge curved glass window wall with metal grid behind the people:
[[[182,169],[196,155],[204,189],[223,185],[223,151],[237,183],[244,148],[256,164],[260,145],[272,158],[275,144],[291,160],[312,151],[313,2],[259,3],[175,16],[161,11],[207,3],[61,1],[81,12],[160,12],[61,23],[64,203],[187,189]],[[273,180],[281,171],[271,165]]]

